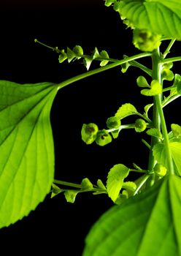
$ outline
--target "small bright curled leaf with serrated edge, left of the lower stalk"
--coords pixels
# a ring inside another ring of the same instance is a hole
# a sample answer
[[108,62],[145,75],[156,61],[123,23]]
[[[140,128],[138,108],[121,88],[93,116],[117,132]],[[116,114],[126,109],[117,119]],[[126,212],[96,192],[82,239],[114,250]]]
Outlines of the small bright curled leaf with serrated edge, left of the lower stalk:
[[114,165],[107,176],[107,193],[113,202],[117,200],[123,180],[128,176],[129,169],[125,165]]

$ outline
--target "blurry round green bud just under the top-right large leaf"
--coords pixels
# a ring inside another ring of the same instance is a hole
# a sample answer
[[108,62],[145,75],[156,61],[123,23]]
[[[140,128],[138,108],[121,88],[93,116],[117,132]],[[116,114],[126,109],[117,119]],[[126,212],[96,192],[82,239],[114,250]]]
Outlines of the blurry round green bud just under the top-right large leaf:
[[161,45],[161,35],[148,29],[134,29],[133,43],[139,50],[152,52]]

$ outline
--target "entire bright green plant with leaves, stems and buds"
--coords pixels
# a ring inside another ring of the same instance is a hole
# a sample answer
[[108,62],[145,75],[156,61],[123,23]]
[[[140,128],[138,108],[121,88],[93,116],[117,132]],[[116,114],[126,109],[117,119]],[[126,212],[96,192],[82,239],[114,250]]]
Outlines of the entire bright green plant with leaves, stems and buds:
[[[166,105],[181,95],[181,76],[171,70],[181,57],[167,58],[174,41],[181,39],[180,0],[110,0],[105,4],[113,5],[123,22],[133,29],[134,45],[144,53],[117,60],[110,59],[105,50],[99,53],[97,48],[91,55],[85,55],[80,45],[66,50],[51,48],[58,53],[60,63],[82,59],[87,69],[93,61],[100,61],[101,67],[60,84],[0,81],[0,227],[28,215],[50,190],[52,197],[63,192],[70,203],[81,192],[106,193],[118,206],[107,211],[90,230],[83,255],[127,255],[128,249],[129,255],[181,255],[181,127],[172,124],[169,129],[163,115]],[[167,40],[168,46],[162,52]],[[137,61],[141,58],[151,58],[152,69]],[[83,124],[82,140],[105,146],[118,138],[122,129],[146,132],[151,138],[150,143],[142,140],[150,149],[147,169],[136,164],[114,165],[107,184],[98,179],[94,185],[88,178],[83,178],[81,184],[55,180],[49,120],[55,94],[77,80],[118,66],[122,72],[131,66],[145,72],[145,77],[140,75],[136,84],[153,103],[146,105],[143,113],[131,103],[123,104],[107,119],[104,129],[93,123]],[[136,118],[129,124],[125,118],[128,120],[132,115]],[[131,172],[141,176],[129,180]]]

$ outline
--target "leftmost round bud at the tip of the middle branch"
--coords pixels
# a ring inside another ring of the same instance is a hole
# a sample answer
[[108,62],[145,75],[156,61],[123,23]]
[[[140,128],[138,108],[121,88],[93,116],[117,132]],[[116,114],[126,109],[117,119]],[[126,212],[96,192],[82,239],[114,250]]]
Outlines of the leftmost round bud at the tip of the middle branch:
[[81,129],[82,140],[86,144],[93,143],[93,141],[96,140],[98,131],[99,131],[99,128],[96,124],[93,124],[93,123],[83,124]]

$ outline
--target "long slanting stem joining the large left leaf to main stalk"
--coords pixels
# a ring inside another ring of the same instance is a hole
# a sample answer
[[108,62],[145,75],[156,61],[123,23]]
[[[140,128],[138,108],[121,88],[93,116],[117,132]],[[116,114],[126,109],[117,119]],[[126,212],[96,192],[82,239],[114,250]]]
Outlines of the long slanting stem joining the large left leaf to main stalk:
[[107,64],[107,66],[99,67],[98,69],[93,69],[93,70],[90,70],[88,72],[82,73],[80,75],[76,75],[73,78],[69,78],[69,79],[59,83],[57,85],[58,89],[61,89],[61,88],[65,87],[65,86],[68,86],[69,84],[77,82],[78,80],[81,80],[83,78],[88,78],[90,75],[96,75],[96,74],[98,74],[100,72],[106,71],[108,69],[112,69],[113,67],[118,67],[121,64],[124,64],[124,63],[126,63],[128,61],[133,61],[135,59],[141,59],[141,58],[144,58],[144,57],[147,57],[147,56],[151,56],[151,53],[140,53],[140,54],[128,57],[126,59],[117,61],[115,63]]

